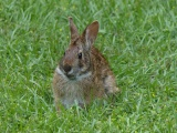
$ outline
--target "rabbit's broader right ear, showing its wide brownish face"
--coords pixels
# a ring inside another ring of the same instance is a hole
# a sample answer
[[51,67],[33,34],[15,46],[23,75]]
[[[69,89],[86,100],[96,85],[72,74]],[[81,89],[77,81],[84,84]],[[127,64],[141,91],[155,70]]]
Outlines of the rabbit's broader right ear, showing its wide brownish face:
[[96,35],[98,32],[98,22],[94,21],[83,32],[83,38],[85,40],[86,48],[91,48],[91,45],[94,43]]

